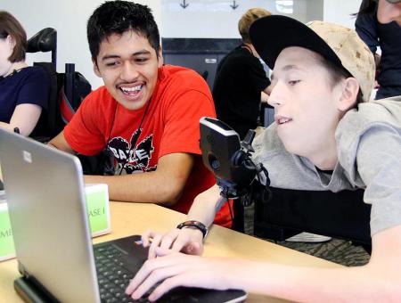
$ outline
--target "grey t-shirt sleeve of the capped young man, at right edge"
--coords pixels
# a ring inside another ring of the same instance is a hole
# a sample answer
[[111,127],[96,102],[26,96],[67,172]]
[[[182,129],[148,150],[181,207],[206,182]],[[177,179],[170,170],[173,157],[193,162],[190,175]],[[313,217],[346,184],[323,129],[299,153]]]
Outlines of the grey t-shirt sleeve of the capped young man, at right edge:
[[371,234],[401,225],[401,135],[397,128],[377,125],[362,135],[356,165],[372,204]]

